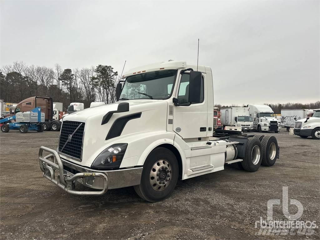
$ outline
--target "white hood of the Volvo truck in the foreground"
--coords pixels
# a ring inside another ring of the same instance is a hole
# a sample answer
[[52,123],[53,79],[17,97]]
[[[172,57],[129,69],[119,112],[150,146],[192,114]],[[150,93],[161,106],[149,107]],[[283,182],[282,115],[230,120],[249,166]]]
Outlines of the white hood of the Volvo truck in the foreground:
[[[113,113],[109,121],[101,125],[103,117],[108,112],[117,110],[118,104],[122,102],[129,103],[129,111]],[[142,132],[166,131],[167,114],[164,113],[167,112],[167,104],[167,101],[163,100],[126,100],[98,107],[86,108],[65,116],[61,127],[61,133],[64,131],[63,124],[65,121],[83,122],[85,125],[81,162],[69,156],[63,157],[76,164],[90,167],[94,159],[112,144],[128,143],[129,148],[130,141],[128,138],[130,138],[130,136]],[[113,126],[118,118],[136,114],[140,114],[140,116],[128,120],[125,123],[117,122],[117,124]],[[121,128],[120,135],[116,134],[116,136],[107,138],[109,131],[114,133],[116,130],[119,130],[119,127]],[[127,152],[125,153],[124,158],[133,157],[127,156]]]

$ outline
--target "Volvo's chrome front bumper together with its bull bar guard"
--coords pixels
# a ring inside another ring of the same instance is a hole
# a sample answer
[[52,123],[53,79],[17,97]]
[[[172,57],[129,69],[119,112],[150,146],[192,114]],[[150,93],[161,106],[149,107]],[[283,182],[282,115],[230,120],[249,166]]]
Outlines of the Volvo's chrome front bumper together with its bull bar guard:
[[[50,154],[44,157],[43,151]],[[100,196],[108,189],[139,185],[141,180],[142,167],[110,171],[93,170],[61,159],[57,151],[46,147],[40,147],[38,158],[43,176],[73,195]],[[99,191],[75,190],[78,183]]]

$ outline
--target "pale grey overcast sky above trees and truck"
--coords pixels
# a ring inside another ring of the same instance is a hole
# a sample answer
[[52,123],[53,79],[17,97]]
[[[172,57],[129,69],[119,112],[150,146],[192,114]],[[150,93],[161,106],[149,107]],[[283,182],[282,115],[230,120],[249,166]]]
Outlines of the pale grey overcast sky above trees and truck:
[[0,1],[0,66],[212,68],[214,102],[320,100],[319,1]]

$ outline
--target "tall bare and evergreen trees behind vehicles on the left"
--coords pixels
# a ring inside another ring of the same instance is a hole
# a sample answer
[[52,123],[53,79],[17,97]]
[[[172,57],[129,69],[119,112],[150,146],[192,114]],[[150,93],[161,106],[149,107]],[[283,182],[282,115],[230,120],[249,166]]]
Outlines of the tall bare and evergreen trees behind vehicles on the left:
[[51,97],[67,108],[71,102],[113,103],[116,101],[118,72],[111,66],[99,64],[91,68],[62,69],[28,66],[14,62],[0,69],[0,96],[4,102],[19,103],[32,96]]

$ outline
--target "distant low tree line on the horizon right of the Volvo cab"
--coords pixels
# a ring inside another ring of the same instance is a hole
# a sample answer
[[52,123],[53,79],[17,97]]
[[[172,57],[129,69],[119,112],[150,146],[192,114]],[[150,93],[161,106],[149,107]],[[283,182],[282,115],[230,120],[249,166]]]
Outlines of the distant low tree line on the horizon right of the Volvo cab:
[[[311,102],[311,103],[264,103],[265,105],[268,105],[275,114],[280,114],[281,113],[281,109],[318,109],[320,108],[320,101],[316,101],[316,102]],[[231,107],[235,107],[235,108],[247,108],[248,105],[230,105],[230,106],[225,106],[225,105],[221,105],[221,104],[215,104],[215,107],[218,107],[219,109],[221,108],[231,108]]]

